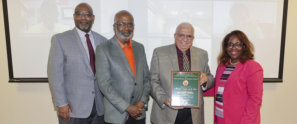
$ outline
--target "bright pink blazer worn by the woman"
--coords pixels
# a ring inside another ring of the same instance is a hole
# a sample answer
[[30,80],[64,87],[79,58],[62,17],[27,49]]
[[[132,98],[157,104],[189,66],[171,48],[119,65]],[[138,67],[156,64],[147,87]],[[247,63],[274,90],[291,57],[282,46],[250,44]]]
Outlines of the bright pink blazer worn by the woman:
[[[227,64],[227,63],[226,63]],[[214,89],[204,95],[217,95],[219,80],[226,66],[217,67]],[[225,124],[259,124],[260,105],[263,92],[263,69],[254,60],[239,62],[227,79],[223,92],[223,108]],[[214,115],[214,124],[215,124]]]

